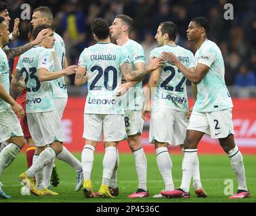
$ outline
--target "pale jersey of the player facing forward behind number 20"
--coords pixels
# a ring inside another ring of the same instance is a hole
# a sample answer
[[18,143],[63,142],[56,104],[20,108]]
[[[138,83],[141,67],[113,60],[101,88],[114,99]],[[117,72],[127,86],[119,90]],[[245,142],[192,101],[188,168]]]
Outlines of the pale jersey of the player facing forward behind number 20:
[[[139,43],[129,40],[122,47],[125,47],[128,51],[130,61],[131,61],[131,70],[135,69],[135,63],[145,63],[145,53],[142,45]],[[122,78],[122,82],[127,82],[125,78]],[[135,84],[135,86],[129,88],[129,90],[123,96],[123,105],[125,111],[142,111],[144,103],[144,95],[142,91],[142,82]]]

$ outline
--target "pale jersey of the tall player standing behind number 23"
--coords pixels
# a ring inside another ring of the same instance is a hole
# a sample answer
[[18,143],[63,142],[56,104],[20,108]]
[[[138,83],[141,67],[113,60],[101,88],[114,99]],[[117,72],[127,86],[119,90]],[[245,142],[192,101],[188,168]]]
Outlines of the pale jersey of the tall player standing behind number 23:
[[[50,49],[55,54],[55,63],[54,63],[54,72],[58,72],[63,70],[64,67],[64,59],[66,55],[66,49],[64,41],[62,37],[54,32],[54,37],[56,38],[54,47]],[[54,90],[54,98],[68,98],[68,90],[66,88],[66,83],[64,81],[64,76],[51,80],[52,88]]]

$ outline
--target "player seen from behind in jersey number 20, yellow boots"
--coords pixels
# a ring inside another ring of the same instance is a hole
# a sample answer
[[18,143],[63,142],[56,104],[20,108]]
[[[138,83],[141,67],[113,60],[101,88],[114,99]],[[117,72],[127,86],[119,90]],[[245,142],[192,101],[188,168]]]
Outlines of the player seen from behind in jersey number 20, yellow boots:
[[103,135],[105,155],[98,196],[112,198],[108,186],[116,163],[116,147],[119,141],[126,138],[123,101],[116,97],[122,74],[127,81],[139,80],[149,71],[160,67],[162,61],[156,59],[148,67],[132,71],[125,47],[110,43],[110,30],[106,20],[93,20],[91,30],[98,43],[81,53],[74,81],[74,84],[80,86],[88,80],[83,132],[85,147],[82,152],[83,193],[85,198],[95,196],[91,185],[93,153]]

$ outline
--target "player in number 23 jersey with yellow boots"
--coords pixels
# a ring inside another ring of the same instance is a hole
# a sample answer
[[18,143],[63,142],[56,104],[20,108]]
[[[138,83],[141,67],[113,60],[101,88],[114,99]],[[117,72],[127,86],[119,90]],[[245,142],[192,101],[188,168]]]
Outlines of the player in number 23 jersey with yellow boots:
[[[35,194],[56,195],[47,189],[43,181],[43,167],[56,158],[62,152],[64,136],[60,117],[54,106],[54,96],[50,80],[61,76],[74,74],[76,65],[71,65],[65,70],[54,72],[54,60],[51,57],[50,48],[54,47],[54,29],[47,25],[39,25],[33,30],[33,37],[47,29],[49,36],[45,37],[38,47],[26,51],[20,56],[16,67],[15,79],[18,86],[26,86],[26,115],[30,134],[37,146],[33,157],[33,165],[20,174],[20,181],[30,186]],[[20,80],[23,76],[24,81]],[[45,148],[49,145],[49,148]],[[37,188],[34,177],[36,175]]]

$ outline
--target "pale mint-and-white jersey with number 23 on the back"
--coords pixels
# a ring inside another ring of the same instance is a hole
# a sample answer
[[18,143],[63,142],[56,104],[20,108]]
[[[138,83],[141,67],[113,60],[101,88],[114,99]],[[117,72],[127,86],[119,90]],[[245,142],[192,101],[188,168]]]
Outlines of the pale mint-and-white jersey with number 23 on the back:
[[17,70],[21,70],[26,83],[26,113],[54,111],[54,92],[51,82],[40,82],[37,70],[45,68],[54,71],[51,51],[43,47],[33,47],[20,55]]

